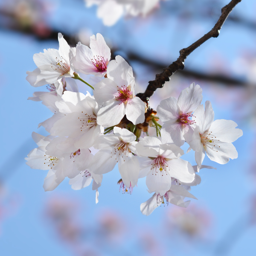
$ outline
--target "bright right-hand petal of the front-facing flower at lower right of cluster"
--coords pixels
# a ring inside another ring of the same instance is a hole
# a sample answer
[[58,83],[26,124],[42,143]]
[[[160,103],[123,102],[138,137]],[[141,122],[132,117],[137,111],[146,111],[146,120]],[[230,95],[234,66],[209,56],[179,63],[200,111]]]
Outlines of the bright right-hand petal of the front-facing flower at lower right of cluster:
[[181,182],[192,182],[195,179],[195,172],[192,165],[183,159],[174,159],[167,162],[169,175]]

